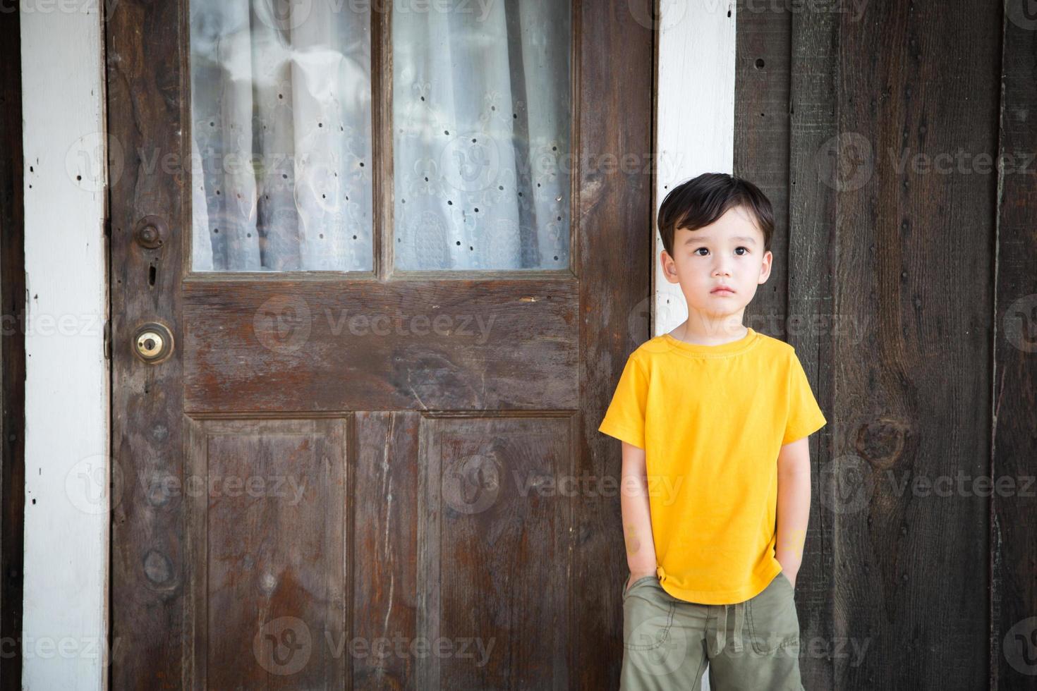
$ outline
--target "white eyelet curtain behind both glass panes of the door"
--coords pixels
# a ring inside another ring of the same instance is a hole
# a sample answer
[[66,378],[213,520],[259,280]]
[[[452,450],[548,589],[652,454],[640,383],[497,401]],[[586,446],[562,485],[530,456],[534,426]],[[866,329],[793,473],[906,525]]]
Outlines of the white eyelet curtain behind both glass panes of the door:
[[[191,0],[195,270],[372,268],[371,4]],[[569,12],[393,11],[397,268],[568,265]]]

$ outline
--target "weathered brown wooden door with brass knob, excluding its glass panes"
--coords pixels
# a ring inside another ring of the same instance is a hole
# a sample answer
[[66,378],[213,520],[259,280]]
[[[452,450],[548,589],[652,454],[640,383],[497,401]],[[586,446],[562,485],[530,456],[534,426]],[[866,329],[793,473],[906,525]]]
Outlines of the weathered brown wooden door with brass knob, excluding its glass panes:
[[114,689],[616,686],[619,449],[596,427],[649,336],[650,2],[571,5],[567,262],[439,270],[395,263],[391,4],[364,28],[368,270],[199,263],[191,7],[108,17]]

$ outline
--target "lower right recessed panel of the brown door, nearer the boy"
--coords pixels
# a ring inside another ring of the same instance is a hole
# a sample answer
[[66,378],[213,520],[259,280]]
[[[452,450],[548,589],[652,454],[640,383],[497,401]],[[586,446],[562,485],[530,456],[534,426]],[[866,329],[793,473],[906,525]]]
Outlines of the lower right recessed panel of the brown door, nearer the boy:
[[570,688],[572,421],[422,420],[416,688]]

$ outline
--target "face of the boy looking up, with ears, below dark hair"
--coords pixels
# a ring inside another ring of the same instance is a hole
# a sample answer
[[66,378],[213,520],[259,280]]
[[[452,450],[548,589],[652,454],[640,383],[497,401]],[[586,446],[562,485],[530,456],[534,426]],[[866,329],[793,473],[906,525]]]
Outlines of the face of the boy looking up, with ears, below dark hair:
[[[773,255],[763,251],[763,231],[741,206],[728,209],[708,226],[680,228],[674,233],[673,256],[661,257],[663,275],[679,283],[689,316],[709,320],[737,316],[741,320],[756,287],[770,276]],[[733,292],[720,291],[726,286]]]

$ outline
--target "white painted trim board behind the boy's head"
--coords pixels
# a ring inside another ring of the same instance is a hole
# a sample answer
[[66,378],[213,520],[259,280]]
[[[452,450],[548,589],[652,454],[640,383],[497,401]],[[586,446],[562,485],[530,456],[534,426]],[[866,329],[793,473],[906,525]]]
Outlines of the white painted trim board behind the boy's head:
[[734,169],[734,0],[658,2],[652,336],[688,318],[680,286],[663,277],[658,207],[674,185]]

